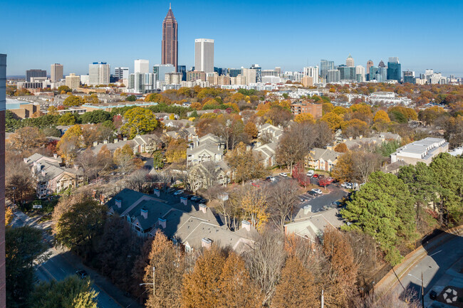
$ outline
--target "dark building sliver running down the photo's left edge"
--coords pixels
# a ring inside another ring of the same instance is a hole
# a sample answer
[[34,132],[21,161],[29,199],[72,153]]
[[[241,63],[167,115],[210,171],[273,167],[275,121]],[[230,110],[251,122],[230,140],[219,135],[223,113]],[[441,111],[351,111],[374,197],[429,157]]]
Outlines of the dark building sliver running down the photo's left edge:
[[0,54],[0,308],[6,307],[5,272],[5,110],[6,55]]

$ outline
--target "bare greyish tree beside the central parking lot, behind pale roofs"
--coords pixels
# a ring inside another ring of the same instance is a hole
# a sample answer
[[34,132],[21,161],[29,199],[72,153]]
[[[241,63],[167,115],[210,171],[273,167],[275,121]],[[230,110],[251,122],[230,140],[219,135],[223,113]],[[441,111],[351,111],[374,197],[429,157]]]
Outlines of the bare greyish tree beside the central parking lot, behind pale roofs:
[[269,193],[270,217],[281,232],[286,220],[291,221],[297,196],[298,184],[295,181],[279,181]]

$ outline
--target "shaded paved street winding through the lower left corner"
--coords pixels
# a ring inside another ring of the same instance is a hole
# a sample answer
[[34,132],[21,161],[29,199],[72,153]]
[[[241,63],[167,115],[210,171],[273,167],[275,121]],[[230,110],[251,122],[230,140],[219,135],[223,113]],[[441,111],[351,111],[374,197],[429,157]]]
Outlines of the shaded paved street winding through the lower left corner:
[[[19,227],[21,225],[33,225],[34,227],[41,228],[43,230],[44,225],[47,225],[47,223],[38,224],[37,221],[38,218],[29,218],[21,211],[15,211],[12,226]],[[48,243],[50,243],[51,235],[45,235],[45,238]],[[49,254],[48,260],[37,265],[36,275],[39,281],[63,280],[68,275],[75,275],[76,270],[84,269],[88,272],[90,279],[93,280],[93,289],[98,292],[98,307],[119,308],[128,307],[129,305],[130,307],[140,307],[140,305],[138,305],[133,299],[123,297],[123,291],[112,285],[105,279],[105,277],[98,275],[95,271],[82,265],[78,257],[73,255],[71,252],[51,247],[46,253]],[[103,290],[100,285],[104,285],[105,290]],[[108,290],[110,290],[111,293],[119,299],[119,301],[105,292]]]

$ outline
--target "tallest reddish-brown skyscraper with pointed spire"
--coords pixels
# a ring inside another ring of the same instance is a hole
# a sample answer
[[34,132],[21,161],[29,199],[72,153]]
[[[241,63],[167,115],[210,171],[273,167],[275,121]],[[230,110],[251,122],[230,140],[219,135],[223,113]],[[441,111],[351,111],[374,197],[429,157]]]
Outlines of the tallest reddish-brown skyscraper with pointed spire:
[[177,71],[177,65],[179,60],[179,43],[177,41],[178,25],[175,20],[174,13],[172,13],[172,7],[169,4],[169,11],[162,21],[162,64],[174,65],[175,71]]

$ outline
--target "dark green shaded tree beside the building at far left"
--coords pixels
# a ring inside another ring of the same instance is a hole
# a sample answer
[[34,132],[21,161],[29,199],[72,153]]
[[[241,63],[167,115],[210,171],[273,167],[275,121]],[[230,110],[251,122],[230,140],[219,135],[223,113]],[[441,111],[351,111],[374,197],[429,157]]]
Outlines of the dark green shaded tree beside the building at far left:
[[34,262],[47,249],[42,241],[42,231],[29,227],[6,228],[6,302],[9,307],[29,307],[28,297],[33,290]]

